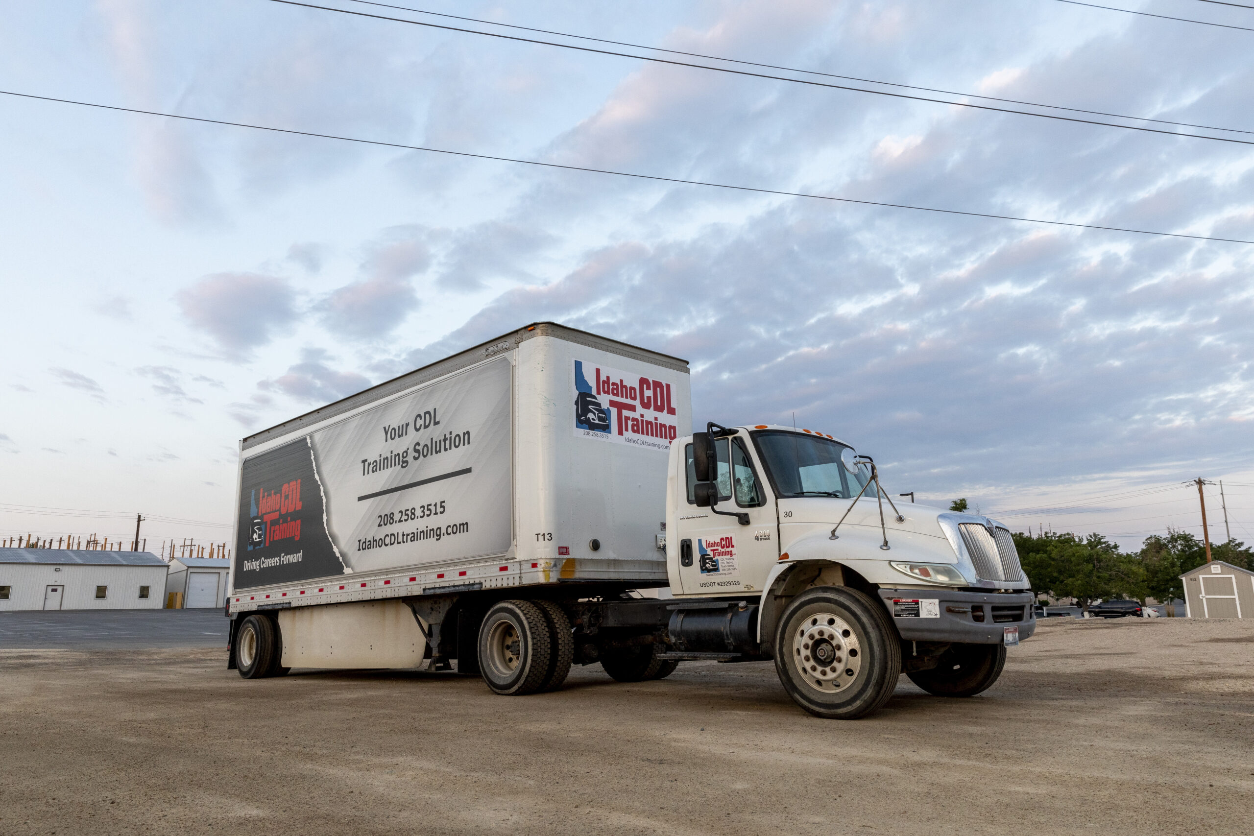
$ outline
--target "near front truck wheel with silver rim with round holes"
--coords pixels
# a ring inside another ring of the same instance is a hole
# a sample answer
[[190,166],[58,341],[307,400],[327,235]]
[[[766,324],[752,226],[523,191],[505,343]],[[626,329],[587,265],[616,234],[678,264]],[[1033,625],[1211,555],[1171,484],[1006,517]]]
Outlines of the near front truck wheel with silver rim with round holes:
[[883,604],[846,587],[804,592],[775,633],[775,671],[801,708],[856,719],[883,707],[902,674],[902,648]]

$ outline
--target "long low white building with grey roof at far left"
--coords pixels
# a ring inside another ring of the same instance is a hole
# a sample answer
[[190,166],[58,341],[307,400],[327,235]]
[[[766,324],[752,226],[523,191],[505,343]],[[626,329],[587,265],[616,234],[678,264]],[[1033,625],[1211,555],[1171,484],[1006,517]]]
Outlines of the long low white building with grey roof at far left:
[[0,610],[161,609],[168,568],[148,551],[0,549]]

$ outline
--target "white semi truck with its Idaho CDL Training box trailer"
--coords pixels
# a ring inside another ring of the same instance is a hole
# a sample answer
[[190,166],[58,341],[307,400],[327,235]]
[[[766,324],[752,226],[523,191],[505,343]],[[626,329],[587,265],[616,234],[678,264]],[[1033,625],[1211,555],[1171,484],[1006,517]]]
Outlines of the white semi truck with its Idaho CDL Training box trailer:
[[243,439],[228,667],[528,694],[774,659],[854,718],[902,673],[978,693],[1032,634],[1006,526],[898,513],[829,434],[691,422],[686,361],[540,322]]

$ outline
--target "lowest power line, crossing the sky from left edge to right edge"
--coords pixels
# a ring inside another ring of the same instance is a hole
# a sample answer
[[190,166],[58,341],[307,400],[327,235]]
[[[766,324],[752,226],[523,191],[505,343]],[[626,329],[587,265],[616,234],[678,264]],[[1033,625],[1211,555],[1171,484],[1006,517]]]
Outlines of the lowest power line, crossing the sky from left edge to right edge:
[[465,157],[468,159],[489,159],[499,163],[518,163],[522,165],[537,165],[540,168],[554,168],[567,172],[586,172],[591,174],[611,174],[614,177],[631,177],[640,180],[652,180],[656,183],[680,183],[683,185],[705,185],[709,188],[727,189],[732,192],[749,192],[752,194],[774,194],[777,197],[800,197],[809,198],[813,201],[830,201],[833,203],[854,203],[859,206],[878,206],[889,209],[910,209],[914,212],[934,212],[937,214],[956,214],[971,218],[992,218],[994,221],[1020,221],[1023,223],[1040,223],[1052,227],[1068,227],[1073,229],[1101,229],[1105,232],[1126,232],[1139,236],[1161,236],[1166,238],[1186,238],[1190,241],[1213,241],[1221,243],[1234,243],[1234,244],[1254,244],[1254,241],[1245,241],[1243,238],[1216,238],[1211,236],[1190,236],[1183,232],[1156,232],[1152,229],[1132,229],[1129,227],[1106,227],[1096,223],[1075,223],[1071,221],[1046,221],[1042,218],[1023,218],[1012,214],[993,214],[991,212],[967,212],[963,209],[942,209],[939,207],[928,206],[910,206],[908,203],[887,203],[882,201],[859,201],[848,197],[835,197],[831,194],[806,194],[804,192],[786,192],[784,189],[766,189],[757,188],[752,185],[732,185],[729,183],[715,183],[711,180],[688,180],[678,177],[661,177],[658,174],[638,174],[635,172],[616,172],[608,168],[589,168],[584,165],[566,165],[562,163],[544,163],[537,159],[519,159],[515,157],[498,157],[494,154],[474,154],[465,150],[450,150],[446,148],[430,148],[426,145],[406,145],[403,143],[382,142],[379,139],[361,139],[356,137],[340,137],[336,134],[322,134],[311,130],[295,130],[291,128],[275,128],[272,125],[256,125],[246,122],[228,122],[226,119],[208,119],[204,117],[187,117],[177,113],[161,113],[157,110],[140,110],[138,108],[123,108],[113,104],[97,104],[94,102],[78,102],[74,99],[58,99],[48,95],[35,95],[33,93],[16,93],[14,90],[0,90],[3,95],[11,95],[23,99],[34,99],[38,102],[55,102],[59,104],[74,104],[84,108],[98,108],[100,110],[115,110],[118,113],[137,113],[145,117],[162,117],[166,119],[182,119],[184,122],[199,122],[211,125],[228,125],[232,128],[250,128],[252,130],[268,130],[280,134],[291,134],[295,137],[314,137],[317,139],[335,139],[339,142],[351,142],[360,143],[364,145],[377,145],[380,148],[399,148],[404,150],[421,150],[433,154],[448,154],[450,157]]

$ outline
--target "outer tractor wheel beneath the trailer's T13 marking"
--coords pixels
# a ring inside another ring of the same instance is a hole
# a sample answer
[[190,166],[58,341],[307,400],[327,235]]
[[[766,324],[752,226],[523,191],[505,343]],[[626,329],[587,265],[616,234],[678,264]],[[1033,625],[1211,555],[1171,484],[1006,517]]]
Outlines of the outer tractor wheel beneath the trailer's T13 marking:
[[479,627],[479,673],[499,694],[535,693],[551,674],[548,620],[528,600],[503,600]]

